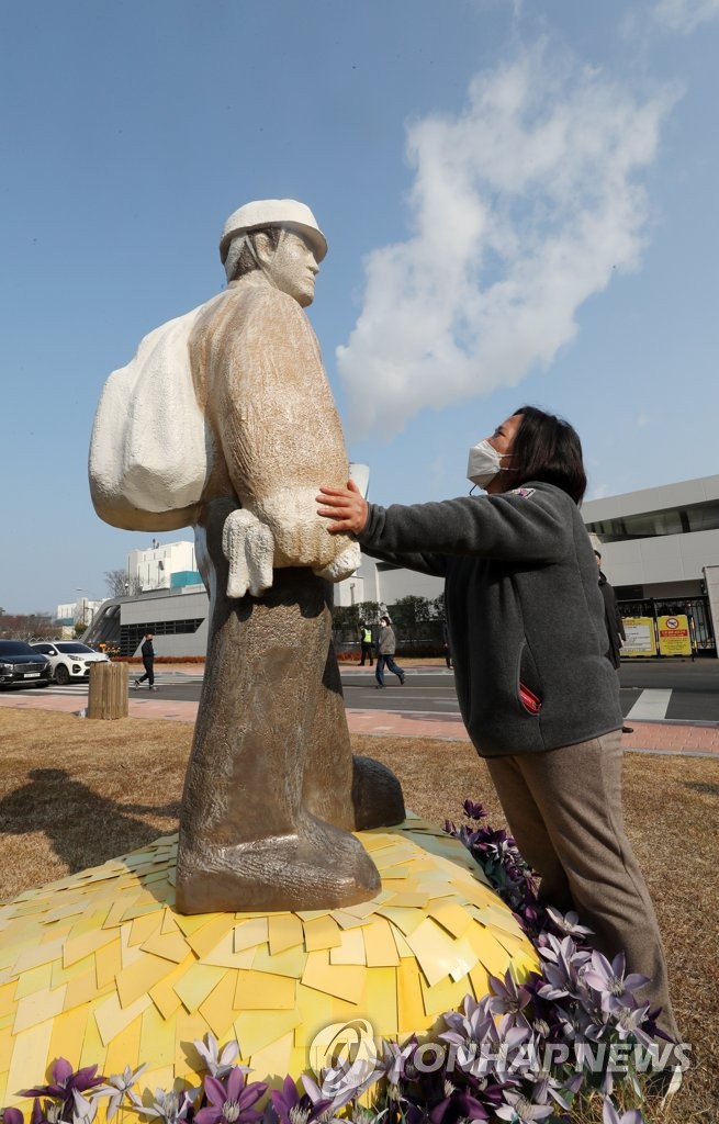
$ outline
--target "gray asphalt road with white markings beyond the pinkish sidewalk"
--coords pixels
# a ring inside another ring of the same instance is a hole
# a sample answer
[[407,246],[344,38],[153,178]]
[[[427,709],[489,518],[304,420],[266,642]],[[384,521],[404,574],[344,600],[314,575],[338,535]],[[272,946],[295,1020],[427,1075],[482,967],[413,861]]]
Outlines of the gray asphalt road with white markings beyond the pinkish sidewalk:
[[[439,669],[409,669],[404,687],[385,674],[385,690],[374,689],[373,672],[343,669],[345,703],[351,710],[385,710],[398,714],[422,713],[458,717],[454,676]],[[197,701],[201,676],[160,670],[156,699]],[[621,707],[631,722],[719,722],[719,660],[626,661],[620,672]],[[24,695],[87,696],[85,685],[28,689]],[[145,691],[131,691],[145,697]]]

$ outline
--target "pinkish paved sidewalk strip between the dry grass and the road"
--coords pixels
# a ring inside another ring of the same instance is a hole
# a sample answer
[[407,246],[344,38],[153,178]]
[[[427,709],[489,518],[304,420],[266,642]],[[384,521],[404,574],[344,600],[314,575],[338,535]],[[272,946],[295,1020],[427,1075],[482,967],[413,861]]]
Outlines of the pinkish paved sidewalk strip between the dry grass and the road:
[[[130,694],[131,718],[193,723],[197,717],[197,703],[158,699],[149,691],[147,696]],[[76,714],[87,705],[87,697],[82,695],[22,695],[21,691],[0,695],[0,709],[15,707],[18,710],[62,710],[65,714]],[[347,724],[354,734],[377,737],[467,741],[466,731],[458,718],[447,718],[424,710],[347,709]],[[637,753],[719,758],[719,723],[637,722],[634,733],[624,735],[624,744],[626,750]]]

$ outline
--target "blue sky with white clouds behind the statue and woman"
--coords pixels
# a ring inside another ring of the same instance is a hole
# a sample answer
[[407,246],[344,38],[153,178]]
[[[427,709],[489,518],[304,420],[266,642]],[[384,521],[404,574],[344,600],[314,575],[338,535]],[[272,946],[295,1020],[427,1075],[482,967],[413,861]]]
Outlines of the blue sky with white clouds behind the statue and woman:
[[468,490],[525,401],[589,497],[716,472],[718,40],[719,0],[6,0],[0,605],[149,545],[93,513],[97,401],[221,289],[249,199],[328,237],[310,316],[375,501]]

